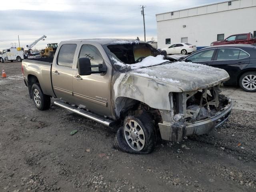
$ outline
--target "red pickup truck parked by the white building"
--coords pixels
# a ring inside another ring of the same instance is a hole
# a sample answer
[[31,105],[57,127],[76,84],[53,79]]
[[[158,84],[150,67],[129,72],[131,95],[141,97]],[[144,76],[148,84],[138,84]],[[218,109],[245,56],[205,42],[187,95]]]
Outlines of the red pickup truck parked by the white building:
[[255,44],[256,38],[252,38],[252,33],[243,33],[231,35],[222,41],[215,41],[211,43],[214,45],[225,45],[225,44]]

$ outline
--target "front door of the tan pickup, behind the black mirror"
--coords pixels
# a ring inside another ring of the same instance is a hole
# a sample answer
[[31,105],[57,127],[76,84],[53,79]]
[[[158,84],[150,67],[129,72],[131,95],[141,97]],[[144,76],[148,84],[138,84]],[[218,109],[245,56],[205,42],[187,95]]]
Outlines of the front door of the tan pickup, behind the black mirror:
[[[98,45],[92,45],[92,43],[81,44],[78,58],[90,58],[92,65],[102,64],[104,60],[108,61],[104,49],[101,46],[96,46]],[[88,110],[110,117],[112,67],[107,63],[106,65],[108,70],[104,76],[100,74],[80,76],[76,62],[73,72],[73,95],[76,105],[82,105]],[[92,71],[98,71],[98,68],[92,68]]]

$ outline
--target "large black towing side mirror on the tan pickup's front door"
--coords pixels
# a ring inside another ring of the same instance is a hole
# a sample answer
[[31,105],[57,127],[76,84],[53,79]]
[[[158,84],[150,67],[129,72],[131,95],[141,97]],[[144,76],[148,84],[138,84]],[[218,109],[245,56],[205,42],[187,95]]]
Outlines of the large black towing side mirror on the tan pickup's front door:
[[[79,75],[90,75],[95,73],[100,73],[100,75],[105,75],[107,72],[107,66],[103,61],[103,64],[91,65],[89,58],[83,57],[79,58],[77,62],[78,74]],[[92,71],[92,67],[98,67],[98,71]]]

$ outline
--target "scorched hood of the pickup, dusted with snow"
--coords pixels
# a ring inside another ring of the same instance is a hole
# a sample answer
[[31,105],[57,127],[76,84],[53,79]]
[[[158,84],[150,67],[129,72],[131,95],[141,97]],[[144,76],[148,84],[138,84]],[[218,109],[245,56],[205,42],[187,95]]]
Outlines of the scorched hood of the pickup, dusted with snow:
[[151,66],[132,70],[128,73],[171,84],[183,91],[215,86],[229,79],[228,73],[223,69],[190,62]]

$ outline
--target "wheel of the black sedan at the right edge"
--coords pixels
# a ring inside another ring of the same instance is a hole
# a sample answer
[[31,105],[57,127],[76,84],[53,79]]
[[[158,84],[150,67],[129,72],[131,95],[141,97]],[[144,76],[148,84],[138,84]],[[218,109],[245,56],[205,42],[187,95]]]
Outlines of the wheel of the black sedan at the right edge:
[[242,74],[239,78],[239,86],[247,92],[256,92],[256,72],[249,71]]

